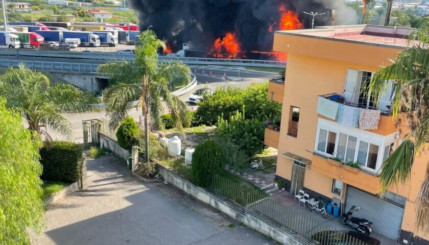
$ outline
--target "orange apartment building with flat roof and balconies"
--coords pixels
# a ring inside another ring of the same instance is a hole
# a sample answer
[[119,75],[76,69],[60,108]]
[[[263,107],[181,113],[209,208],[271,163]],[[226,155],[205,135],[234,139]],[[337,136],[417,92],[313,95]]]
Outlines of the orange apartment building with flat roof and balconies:
[[379,66],[406,48],[411,32],[369,25],[277,31],[274,51],[288,53],[288,64],[284,82],[269,83],[268,97],[282,103],[282,115],[279,132],[266,128],[265,143],[278,149],[276,176],[292,194],[302,189],[342,211],[359,206],[356,216],[372,221],[374,232],[401,244],[429,244],[429,235],[411,234],[429,155],[415,159],[409,183],[380,199],[378,170],[401,143],[390,113],[396,85],[386,81],[378,105],[364,94]]

